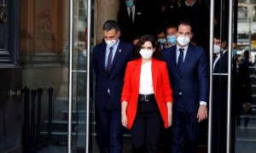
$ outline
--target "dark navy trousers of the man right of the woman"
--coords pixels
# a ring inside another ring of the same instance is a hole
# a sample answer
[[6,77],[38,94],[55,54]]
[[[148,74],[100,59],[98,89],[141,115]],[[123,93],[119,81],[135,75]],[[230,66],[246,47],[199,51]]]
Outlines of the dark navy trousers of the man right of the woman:
[[172,153],[195,153],[199,133],[197,112],[189,113],[178,107],[172,112]]

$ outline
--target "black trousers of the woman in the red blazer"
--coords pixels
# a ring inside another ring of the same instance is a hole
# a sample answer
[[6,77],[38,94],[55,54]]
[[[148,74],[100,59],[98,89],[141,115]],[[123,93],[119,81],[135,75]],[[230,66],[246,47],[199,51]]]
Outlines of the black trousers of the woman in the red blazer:
[[155,99],[151,101],[138,100],[137,116],[131,127],[133,153],[156,153],[162,124],[163,121]]

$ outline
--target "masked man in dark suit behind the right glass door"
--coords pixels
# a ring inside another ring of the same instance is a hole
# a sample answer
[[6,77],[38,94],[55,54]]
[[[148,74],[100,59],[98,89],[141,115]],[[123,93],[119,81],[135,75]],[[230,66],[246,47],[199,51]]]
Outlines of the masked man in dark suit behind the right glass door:
[[228,101],[228,68],[229,54],[226,42],[221,42],[216,34],[213,48],[218,53],[213,58],[212,74],[212,152],[225,150],[226,119]]

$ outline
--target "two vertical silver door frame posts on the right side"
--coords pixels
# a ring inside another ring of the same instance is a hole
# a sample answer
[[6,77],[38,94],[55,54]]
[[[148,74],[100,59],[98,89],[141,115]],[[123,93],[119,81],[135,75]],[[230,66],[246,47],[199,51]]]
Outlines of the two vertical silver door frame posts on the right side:
[[[224,0],[220,0],[222,3]],[[233,31],[233,3],[236,4],[236,0],[229,1],[229,6],[227,7],[228,12],[228,56],[229,56],[229,65],[228,65],[228,92],[227,92],[227,104],[228,104],[228,110],[227,110],[227,133],[226,133],[226,152],[230,153],[231,150],[231,69],[232,69],[232,42],[233,42],[233,34],[235,33]],[[214,1],[210,2],[210,92],[209,92],[209,120],[208,120],[208,144],[207,144],[207,152],[212,152],[212,73],[213,73],[213,33],[214,33]],[[220,24],[220,26],[224,26]],[[223,28],[222,28],[223,30]],[[222,32],[222,31],[221,31]],[[236,33],[235,33],[236,34]],[[234,36],[236,37],[236,36]],[[234,38],[235,39],[235,38]]]

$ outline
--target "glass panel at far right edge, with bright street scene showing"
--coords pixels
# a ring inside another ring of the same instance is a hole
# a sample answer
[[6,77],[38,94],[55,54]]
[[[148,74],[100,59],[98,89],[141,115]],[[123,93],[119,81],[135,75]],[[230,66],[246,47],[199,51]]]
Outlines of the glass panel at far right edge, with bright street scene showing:
[[237,6],[238,80],[234,116],[235,152],[256,150],[256,1],[239,0]]

